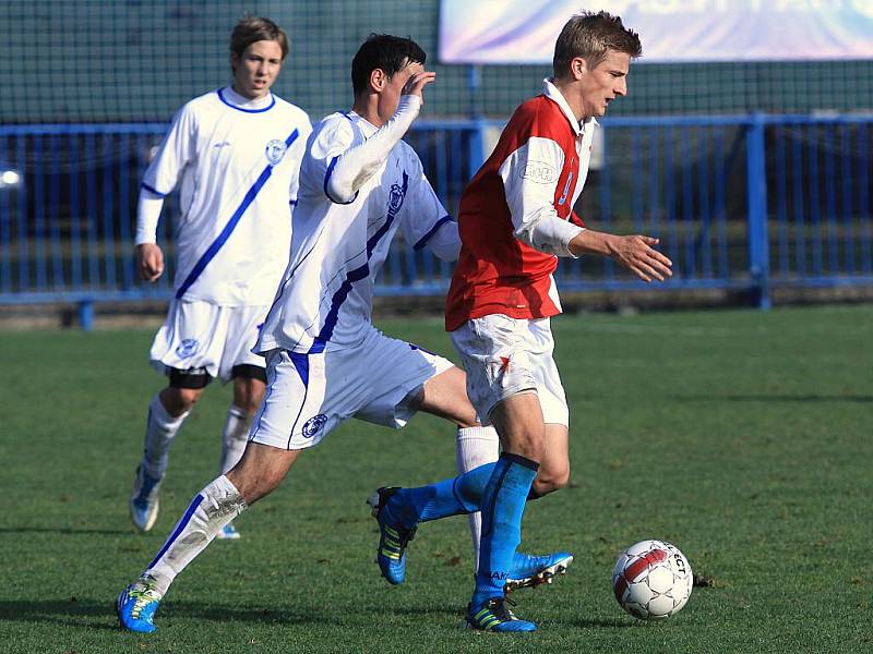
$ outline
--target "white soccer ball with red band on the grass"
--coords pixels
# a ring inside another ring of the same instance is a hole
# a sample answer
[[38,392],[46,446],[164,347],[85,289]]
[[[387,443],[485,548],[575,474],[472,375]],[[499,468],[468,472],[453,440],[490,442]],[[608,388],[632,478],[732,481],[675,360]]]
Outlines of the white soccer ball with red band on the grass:
[[621,553],[612,570],[612,590],[635,618],[663,620],[691,596],[694,576],[679,548],[663,541],[641,541]]

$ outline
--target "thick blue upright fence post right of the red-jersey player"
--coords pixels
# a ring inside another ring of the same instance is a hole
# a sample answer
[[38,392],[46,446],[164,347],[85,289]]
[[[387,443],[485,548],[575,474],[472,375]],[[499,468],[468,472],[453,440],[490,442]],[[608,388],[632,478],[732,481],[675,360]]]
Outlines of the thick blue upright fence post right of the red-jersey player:
[[746,145],[746,186],[749,193],[749,272],[752,276],[754,302],[758,308],[770,307],[769,238],[767,234],[767,166],[764,144],[763,113],[752,114]]

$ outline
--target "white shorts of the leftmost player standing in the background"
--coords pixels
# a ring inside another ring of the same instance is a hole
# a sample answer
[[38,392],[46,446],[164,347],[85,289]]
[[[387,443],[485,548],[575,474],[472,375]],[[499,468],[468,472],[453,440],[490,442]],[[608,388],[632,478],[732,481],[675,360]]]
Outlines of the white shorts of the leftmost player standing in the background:
[[268,308],[174,300],[152,343],[152,365],[163,373],[202,368],[224,382],[236,365],[263,368],[264,358],[251,350]]

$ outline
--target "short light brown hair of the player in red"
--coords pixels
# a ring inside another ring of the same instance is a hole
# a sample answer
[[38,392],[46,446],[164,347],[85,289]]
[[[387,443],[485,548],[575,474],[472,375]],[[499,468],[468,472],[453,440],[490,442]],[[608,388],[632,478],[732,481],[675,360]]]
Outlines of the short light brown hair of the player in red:
[[589,69],[595,69],[607,58],[609,50],[636,58],[643,53],[643,45],[639,35],[627,29],[619,16],[605,11],[576,14],[566,22],[554,44],[554,76],[564,76],[576,57],[582,57]]

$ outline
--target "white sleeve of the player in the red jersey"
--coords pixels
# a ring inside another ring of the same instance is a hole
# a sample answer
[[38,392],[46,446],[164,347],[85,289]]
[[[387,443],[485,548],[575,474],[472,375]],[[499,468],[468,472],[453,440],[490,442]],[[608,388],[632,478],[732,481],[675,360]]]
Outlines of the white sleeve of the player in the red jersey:
[[582,228],[559,218],[553,204],[564,152],[548,136],[524,136],[499,171],[515,237],[540,252],[574,256],[570,241]]

